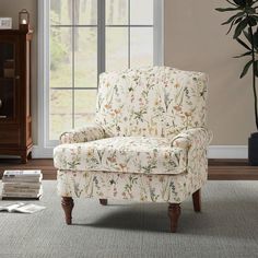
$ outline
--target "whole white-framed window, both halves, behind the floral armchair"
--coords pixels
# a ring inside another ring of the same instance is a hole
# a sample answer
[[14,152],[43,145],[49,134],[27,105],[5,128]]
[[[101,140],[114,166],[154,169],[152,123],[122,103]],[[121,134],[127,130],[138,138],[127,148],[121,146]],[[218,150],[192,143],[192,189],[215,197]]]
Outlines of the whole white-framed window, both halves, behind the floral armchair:
[[99,73],[163,64],[162,8],[163,0],[39,1],[47,145],[93,120]]

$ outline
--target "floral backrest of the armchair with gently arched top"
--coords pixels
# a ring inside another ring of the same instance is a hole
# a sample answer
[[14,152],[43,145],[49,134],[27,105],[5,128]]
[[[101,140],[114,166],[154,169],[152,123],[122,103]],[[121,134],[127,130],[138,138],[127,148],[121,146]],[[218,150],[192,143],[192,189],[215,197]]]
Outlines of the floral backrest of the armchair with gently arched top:
[[207,126],[208,77],[169,67],[103,73],[96,122],[107,137],[171,138]]

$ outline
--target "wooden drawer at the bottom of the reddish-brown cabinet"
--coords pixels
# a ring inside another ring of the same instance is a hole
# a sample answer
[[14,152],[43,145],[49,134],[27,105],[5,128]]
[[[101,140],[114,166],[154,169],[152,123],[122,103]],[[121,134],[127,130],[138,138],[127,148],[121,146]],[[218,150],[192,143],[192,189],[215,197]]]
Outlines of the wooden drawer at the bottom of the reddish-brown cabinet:
[[20,145],[20,130],[17,125],[0,126],[0,145]]

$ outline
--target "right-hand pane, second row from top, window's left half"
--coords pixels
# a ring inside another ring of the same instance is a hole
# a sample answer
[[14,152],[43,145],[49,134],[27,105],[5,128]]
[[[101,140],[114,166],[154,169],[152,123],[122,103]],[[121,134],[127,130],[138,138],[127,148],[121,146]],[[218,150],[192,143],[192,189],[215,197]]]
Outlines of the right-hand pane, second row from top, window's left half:
[[97,28],[74,28],[75,87],[97,87]]

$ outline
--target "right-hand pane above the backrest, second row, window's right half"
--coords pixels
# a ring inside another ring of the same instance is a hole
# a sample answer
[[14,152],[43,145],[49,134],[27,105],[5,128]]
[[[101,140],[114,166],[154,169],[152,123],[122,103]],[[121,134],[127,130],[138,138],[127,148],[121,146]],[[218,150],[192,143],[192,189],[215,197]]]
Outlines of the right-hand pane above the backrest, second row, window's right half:
[[153,64],[153,28],[131,27],[131,67]]

